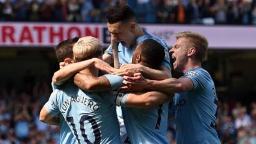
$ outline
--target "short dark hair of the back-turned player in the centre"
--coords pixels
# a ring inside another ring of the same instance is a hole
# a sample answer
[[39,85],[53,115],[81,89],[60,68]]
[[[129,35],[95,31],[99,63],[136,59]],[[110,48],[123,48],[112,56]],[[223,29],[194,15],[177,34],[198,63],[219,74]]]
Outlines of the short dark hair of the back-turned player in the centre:
[[147,39],[141,42],[140,49],[142,61],[150,68],[159,69],[165,56],[164,47],[156,40]]

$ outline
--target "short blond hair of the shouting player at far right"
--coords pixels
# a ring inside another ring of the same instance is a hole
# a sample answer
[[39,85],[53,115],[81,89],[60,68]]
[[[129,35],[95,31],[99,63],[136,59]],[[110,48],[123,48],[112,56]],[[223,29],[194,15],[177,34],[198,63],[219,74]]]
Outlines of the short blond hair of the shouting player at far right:
[[207,52],[208,49],[208,41],[207,38],[205,38],[205,36],[200,35],[198,33],[193,33],[191,31],[184,31],[181,33],[177,33],[175,35],[176,39],[178,40],[179,38],[186,38],[187,44],[186,47],[195,47],[196,49],[196,54],[195,54],[195,58],[196,60],[199,61],[204,61],[205,59],[205,54]]

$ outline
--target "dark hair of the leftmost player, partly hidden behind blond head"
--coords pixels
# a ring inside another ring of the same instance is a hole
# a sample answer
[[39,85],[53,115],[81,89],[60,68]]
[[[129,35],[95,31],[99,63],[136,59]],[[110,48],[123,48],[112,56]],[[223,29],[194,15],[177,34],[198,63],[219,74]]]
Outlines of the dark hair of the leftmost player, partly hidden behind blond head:
[[73,58],[73,45],[79,40],[79,37],[68,38],[58,44],[55,49],[56,57],[59,62],[64,61],[65,58]]

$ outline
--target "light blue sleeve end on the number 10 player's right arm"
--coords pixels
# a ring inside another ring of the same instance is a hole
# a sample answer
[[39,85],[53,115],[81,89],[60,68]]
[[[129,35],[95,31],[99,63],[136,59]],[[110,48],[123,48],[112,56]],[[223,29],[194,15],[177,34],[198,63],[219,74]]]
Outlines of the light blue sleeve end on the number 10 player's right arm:
[[113,74],[105,74],[104,76],[107,77],[109,83],[111,84],[112,90],[117,90],[123,84],[123,77],[121,76],[116,76]]

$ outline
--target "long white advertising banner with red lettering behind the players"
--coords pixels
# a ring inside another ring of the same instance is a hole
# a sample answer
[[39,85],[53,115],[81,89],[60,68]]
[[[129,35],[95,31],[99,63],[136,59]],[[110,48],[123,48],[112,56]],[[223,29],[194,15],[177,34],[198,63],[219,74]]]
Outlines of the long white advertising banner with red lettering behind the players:
[[[256,49],[255,26],[189,26],[140,24],[172,47],[175,33],[193,31],[209,40],[210,49]],[[54,47],[74,36],[94,36],[109,45],[106,24],[65,23],[0,23],[1,47]]]

